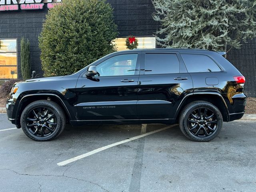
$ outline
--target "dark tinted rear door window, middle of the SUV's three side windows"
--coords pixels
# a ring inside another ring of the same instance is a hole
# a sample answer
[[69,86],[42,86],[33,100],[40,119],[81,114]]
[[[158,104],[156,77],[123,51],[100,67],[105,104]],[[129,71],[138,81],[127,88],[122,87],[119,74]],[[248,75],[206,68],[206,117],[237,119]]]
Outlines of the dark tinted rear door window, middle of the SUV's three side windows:
[[146,54],[145,74],[179,73],[180,62],[176,54]]

